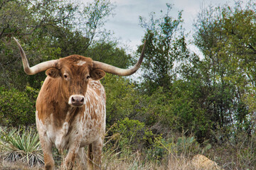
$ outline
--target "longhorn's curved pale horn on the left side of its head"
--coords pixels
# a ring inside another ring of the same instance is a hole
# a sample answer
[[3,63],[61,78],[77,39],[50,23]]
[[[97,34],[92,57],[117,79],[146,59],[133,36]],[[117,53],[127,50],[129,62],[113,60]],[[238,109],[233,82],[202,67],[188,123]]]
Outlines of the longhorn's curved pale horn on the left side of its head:
[[41,62],[40,64],[36,64],[33,67],[29,67],[28,60],[26,58],[25,52],[23,51],[20,43],[18,43],[16,38],[14,38],[14,40],[16,41],[16,43],[18,45],[18,49],[21,52],[21,59],[22,59],[22,63],[23,63],[23,69],[24,69],[24,72],[26,72],[26,74],[28,74],[28,75],[37,74],[38,72],[43,72],[46,69],[50,69],[50,68],[53,68],[53,67],[57,66],[58,60],[50,60],[48,62]]

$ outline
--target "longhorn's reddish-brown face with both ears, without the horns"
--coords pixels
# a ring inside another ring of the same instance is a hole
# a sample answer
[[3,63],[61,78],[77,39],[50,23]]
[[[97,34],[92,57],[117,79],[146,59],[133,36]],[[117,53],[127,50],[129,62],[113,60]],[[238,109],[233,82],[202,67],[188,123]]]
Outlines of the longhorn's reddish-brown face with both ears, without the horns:
[[105,72],[101,69],[93,69],[90,58],[71,55],[60,59],[58,67],[48,69],[46,75],[60,79],[61,94],[70,106],[81,107],[85,104],[89,80],[102,79],[105,77]]

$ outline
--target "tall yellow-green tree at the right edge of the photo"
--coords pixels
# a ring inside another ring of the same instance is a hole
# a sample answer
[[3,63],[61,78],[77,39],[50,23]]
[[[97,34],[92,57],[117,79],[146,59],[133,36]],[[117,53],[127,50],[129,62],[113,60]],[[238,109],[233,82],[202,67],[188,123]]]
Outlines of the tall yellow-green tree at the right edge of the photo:
[[213,130],[225,135],[247,130],[252,123],[244,98],[255,94],[255,7],[253,1],[235,8],[209,6],[198,14],[195,44],[203,53],[200,72],[206,99],[203,107],[210,114]]

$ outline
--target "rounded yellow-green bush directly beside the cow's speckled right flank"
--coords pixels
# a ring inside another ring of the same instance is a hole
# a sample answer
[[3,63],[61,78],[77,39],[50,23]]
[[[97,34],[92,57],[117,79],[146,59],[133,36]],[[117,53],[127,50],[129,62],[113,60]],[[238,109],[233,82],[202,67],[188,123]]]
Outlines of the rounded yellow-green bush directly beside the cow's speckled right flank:
[[107,125],[137,113],[140,96],[129,79],[107,74],[102,84],[107,94]]

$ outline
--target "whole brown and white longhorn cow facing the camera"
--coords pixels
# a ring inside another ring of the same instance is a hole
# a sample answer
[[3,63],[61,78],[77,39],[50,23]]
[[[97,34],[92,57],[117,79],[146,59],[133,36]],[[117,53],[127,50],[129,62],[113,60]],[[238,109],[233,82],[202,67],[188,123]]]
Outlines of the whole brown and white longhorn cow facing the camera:
[[54,169],[53,146],[60,153],[68,150],[62,169],[73,169],[75,158],[84,168],[100,169],[106,126],[106,94],[100,79],[105,77],[105,72],[119,76],[137,72],[146,43],[137,64],[131,69],[120,69],[80,55],[29,67],[25,52],[14,40],[21,52],[24,72],[32,75],[46,71],[47,75],[36,100],[36,128],[45,169]]

